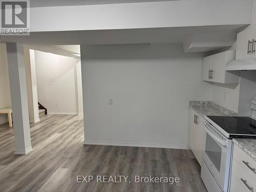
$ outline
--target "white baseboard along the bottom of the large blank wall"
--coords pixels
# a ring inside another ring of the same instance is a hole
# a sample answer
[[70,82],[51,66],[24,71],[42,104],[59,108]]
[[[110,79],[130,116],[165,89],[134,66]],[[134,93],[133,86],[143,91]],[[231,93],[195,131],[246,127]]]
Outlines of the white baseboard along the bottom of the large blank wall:
[[130,143],[130,142],[111,142],[111,141],[83,141],[84,145],[110,145],[110,146],[134,146],[151,148],[175,148],[179,150],[189,150],[188,145],[176,144],[152,144],[152,143]]

